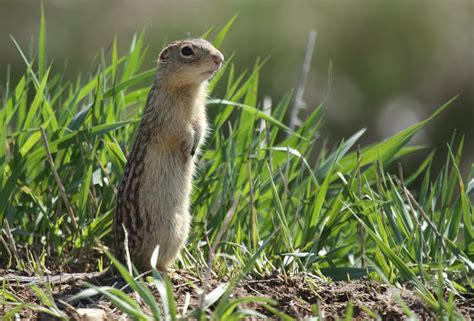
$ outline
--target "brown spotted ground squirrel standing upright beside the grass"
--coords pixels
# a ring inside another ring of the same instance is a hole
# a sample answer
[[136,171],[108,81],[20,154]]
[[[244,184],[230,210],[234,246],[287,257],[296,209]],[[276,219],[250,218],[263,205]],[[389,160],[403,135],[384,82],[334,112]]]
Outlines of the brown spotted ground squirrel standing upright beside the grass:
[[158,71],[117,194],[114,219],[117,255],[150,269],[159,245],[157,268],[166,270],[189,233],[189,197],[194,161],[207,131],[207,80],[223,55],[206,40],[168,45]]

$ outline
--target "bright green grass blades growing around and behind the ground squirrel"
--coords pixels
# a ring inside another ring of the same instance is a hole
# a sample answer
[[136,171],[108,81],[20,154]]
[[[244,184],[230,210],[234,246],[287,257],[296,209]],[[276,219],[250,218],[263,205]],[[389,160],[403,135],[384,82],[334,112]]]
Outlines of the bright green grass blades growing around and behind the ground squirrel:
[[[210,37],[216,45],[233,21]],[[102,269],[111,258],[99,245],[111,244],[116,187],[155,72],[141,67],[147,54],[143,34],[121,57],[114,41],[75,82],[49,65],[44,18],[38,52],[27,54],[12,40],[25,72],[17,83],[7,75],[0,109],[1,267],[37,273],[45,267]],[[214,318],[238,318],[242,311],[229,297],[232,288],[245,275],[264,277],[280,269],[328,280],[368,276],[410,284],[440,318],[455,317],[449,294],[472,291],[474,166],[467,175],[459,171],[464,137],[453,136],[447,144],[439,173],[431,169],[434,151],[407,145],[451,101],[425,121],[359,151],[364,130],[328,148],[318,139],[323,105],[291,132],[283,123],[291,95],[269,114],[261,108],[259,72],[271,62],[257,60],[237,74],[233,56],[227,60],[210,83],[212,131],[194,181],[192,234],[175,267],[204,278],[210,262],[217,277],[231,281],[208,293],[207,305],[190,315],[204,317],[209,302],[217,301]],[[413,153],[427,155],[416,171],[404,176],[393,170]],[[162,294],[160,305],[143,279],[119,271],[148,312],[175,319],[166,277],[155,271],[148,280]],[[37,306],[15,297],[5,283],[1,291],[0,304],[64,317],[39,289],[46,297]],[[119,289],[87,291],[81,295],[101,293],[135,319],[146,318]],[[253,300],[278,313],[272,300]],[[350,319],[352,306],[347,311]]]

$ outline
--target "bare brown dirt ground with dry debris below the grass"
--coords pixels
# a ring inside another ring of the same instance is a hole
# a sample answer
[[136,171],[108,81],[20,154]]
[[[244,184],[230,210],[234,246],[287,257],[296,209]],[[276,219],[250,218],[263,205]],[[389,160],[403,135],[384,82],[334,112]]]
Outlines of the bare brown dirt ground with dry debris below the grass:
[[[3,276],[2,276],[3,274]],[[26,275],[18,276],[12,271],[7,273],[0,271],[0,279],[6,280],[7,289],[14,291],[15,295],[24,302],[40,303],[37,296],[31,290],[31,284],[40,287],[41,280]],[[93,274],[63,274],[49,276],[49,282],[53,283],[52,293],[56,304],[65,311],[72,319],[79,320],[76,309],[98,308],[105,312],[107,320],[117,320],[122,313],[114,308],[103,297],[96,296],[92,299],[83,299],[78,302],[68,302],[68,299],[84,289],[84,283],[89,282],[100,286],[125,286],[125,282],[112,275],[94,276]],[[205,283],[206,292],[226,280],[211,279]],[[193,276],[176,271],[172,275],[172,283],[177,303],[178,313],[183,314],[183,308],[187,306],[187,311],[199,304],[197,289],[202,289],[204,283]],[[156,289],[150,287],[153,294],[159,300]],[[129,291],[132,295],[132,291]],[[335,320],[343,317],[348,304],[353,307],[355,320],[365,320],[368,318],[380,317],[383,320],[403,320],[406,319],[406,312],[400,304],[404,302],[419,319],[436,319],[426,304],[408,288],[396,288],[391,285],[381,284],[367,279],[352,282],[322,282],[317,276],[310,274],[299,274],[287,277],[274,274],[265,278],[246,278],[239,282],[232,291],[231,298],[240,297],[267,297],[275,300],[276,309],[287,315],[302,319],[308,316],[319,314],[324,320]],[[186,302],[187,301],[187,302]],[[403,303],[402,303],[403,304]],[[467,320],[474,318],[474,298],[457,298],[456,305]],[[9,306],[0,306],[1,316],[10,309]],[[239,306],[240,309],[251,308],[271,318],[275,315],[266,307],[257,303],[247,303],[246,306]],[[212,309],[212,306],[211,306]],[[20,313],[22,319],[51,320],[45,314],[39,314],[31,310],[24,310]],[[121,319],[123,320],[123,318]]]

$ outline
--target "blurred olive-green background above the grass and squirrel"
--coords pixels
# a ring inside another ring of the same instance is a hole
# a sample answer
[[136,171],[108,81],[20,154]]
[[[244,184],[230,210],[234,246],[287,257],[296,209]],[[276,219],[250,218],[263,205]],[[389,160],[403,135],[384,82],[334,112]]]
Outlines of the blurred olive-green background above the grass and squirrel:
[[[317,41],[304,100],[311,112],[325,97],[327,70],[333,80],[325,104],[323,139],[336,143],[362,127],[362,144],[374,142],[427,117],[459,94],[454,105],[415,143],[437,147],[444,159],[454,129],[466,136],[464,172],[474,160],[474,1],[244,1],[244,0],[44,0],[48,58],[65,77],[86,73],[114,35],[125,53],[135,32],[146,30],[152,67],[163,44],[199,36],[239,17],[222,51],[237,53],[238,71],[257,57],[261,92],[278,102],[296,88],[308,33]],[[0,0],[0,81],[7,65],[13,81],[25,65],[9,34],[28,50],[39,33],[41,2]],[[67,62],[66,62],[67,61]],[[65,63],[66,62],[66,63]],[[1,83],[0,83],[1,84]],[[219,92],[216,93],[218,96]],[[261,97],[263,100],[263,97]],[[408,160],[414,168],[420,159]]]

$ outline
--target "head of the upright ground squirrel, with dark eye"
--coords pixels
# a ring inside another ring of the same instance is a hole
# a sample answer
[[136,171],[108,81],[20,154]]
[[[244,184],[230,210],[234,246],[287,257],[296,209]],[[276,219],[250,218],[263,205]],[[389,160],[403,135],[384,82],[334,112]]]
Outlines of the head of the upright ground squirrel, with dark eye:
[[169,44],[158,58],[158,75],[176,86],[200,85],[219,70],[222,53],[204,39]]

